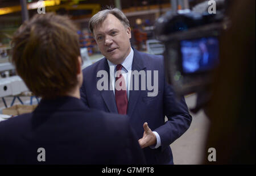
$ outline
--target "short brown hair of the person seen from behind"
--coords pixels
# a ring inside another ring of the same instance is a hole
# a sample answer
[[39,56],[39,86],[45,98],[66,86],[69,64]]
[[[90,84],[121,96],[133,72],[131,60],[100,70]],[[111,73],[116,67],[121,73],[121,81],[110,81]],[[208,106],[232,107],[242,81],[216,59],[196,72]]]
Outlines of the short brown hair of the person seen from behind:
[[16,72],[36,96],[56,98],[77,84],[79,36],[67,16],[36,14],[14,34]]

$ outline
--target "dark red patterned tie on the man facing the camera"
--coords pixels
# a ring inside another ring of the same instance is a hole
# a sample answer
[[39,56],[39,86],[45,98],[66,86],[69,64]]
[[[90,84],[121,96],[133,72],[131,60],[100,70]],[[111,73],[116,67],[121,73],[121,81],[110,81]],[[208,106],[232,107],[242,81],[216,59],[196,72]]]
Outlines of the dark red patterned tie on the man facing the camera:
[[[117,72],[121,72],[122,65],[117,65]],[[117,74],[118,75],[118,74]],[[127,114],[127,94],[126,94],[126,85],[122,85],[122,82],[125,83],[125,78],[122,74],[119,74],[119,77],[115,77],[115,82],[120,82],[119,85],[115,85],[115,102],[117,103],[118,114]],[[116,87],[122,87],[121,90],[117,90]]]

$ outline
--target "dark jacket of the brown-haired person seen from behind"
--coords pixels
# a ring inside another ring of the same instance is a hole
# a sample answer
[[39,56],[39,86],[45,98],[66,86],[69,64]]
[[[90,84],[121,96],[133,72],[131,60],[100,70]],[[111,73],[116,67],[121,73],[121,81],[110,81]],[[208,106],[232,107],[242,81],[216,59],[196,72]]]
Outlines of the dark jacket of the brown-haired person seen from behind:
[[[0,122],[0,164],[143,164],[128,121],[74,97],[43,99],[31,114]],[[38,148],[46,150],[45,162]]]

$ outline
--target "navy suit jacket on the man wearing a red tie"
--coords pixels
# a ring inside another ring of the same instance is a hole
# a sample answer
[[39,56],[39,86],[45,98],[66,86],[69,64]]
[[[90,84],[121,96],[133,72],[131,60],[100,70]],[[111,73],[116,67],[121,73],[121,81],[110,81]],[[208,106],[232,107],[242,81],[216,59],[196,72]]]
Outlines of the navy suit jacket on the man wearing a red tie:
[[[162,56],[148,55],[134,49],[132,70],[158,70],[158,95],[147,97],[148,90],[130,90],[127,115],[137,136],[143,136],[143,123],[147,122],[152,131],[158,132],[162,146],[158,149],[144,148],[147,164],[173,164],[170,144],[180,137],[191,124],[184,98],[177,100],[172,86],[166,82]],[[81,99],[89,108],[118,113],[113,90],[97,89],[97,72],[106,70],[106,58],[83,70],[84,82],[80,89]],[[153,78],[153,76],[151,76]],[[134,80],[133,80],[134,81]],[[153,81],[151,81],[153,83]],[[134,82],[133,82],[134,85]],[[165,123],[164,118],[168,121]]]

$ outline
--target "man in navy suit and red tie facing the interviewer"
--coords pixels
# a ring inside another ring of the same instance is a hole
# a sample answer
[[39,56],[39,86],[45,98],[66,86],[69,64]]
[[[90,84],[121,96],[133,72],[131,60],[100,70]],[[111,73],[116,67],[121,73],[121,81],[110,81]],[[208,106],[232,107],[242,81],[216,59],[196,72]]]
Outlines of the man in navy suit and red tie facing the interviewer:
[[105,58],[83,70],[81,99],[89,108],[129,115],[147,164],[173,164],[170,144],[192,117],[165,80],[163,57],[131,48],[129,21],[118,9],[98,12],[89,27]]

